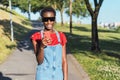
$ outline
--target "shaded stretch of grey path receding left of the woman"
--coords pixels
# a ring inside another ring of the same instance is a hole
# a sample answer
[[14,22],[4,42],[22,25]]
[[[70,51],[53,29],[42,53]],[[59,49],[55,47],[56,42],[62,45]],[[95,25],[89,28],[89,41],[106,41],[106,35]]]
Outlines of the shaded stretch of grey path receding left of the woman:
[[21,40],[17,43],[17,49],[21,52],[23,49],[25,50],[33,50],[32,43],[30,41],[30,37],[33,33],[39,32],[41,29],[43,29],[42,23],[40,22],[32,22],[33,29]]

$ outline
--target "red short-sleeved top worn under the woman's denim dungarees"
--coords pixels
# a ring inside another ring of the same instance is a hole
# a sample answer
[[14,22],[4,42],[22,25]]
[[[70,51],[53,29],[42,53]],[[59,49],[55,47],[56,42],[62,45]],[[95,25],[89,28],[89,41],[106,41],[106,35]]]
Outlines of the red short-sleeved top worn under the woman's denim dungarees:
[[[63,46],[67,42],[66,36],[63,32],[58,32],[58,33],[60,35],[60,44]],[[52,43],[50,45],[56,45],[59,43],[56,33],[50,34],[50,37],[52,38]],[[40,41],[41,38],[42,37],[40,32],[36,32],[31,36],[31,39],[35,41]]]

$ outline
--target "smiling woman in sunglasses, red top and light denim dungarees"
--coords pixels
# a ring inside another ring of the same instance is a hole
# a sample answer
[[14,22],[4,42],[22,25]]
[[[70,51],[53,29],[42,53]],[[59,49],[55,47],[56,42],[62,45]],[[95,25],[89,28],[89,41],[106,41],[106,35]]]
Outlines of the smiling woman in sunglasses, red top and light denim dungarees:
[[44,30],[31,36],[38,62],[36,80],[68,80],[66,37],[54,30],[56,12],[51,7],[41,11]]

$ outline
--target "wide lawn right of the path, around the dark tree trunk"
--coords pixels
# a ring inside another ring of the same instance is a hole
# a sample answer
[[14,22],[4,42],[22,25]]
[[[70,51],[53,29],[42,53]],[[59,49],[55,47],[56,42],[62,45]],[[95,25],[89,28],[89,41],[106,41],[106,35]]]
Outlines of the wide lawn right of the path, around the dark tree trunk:
[[[73,25],[73,34],[69,27],[56,25],[57,30],[66,33],[67,52],[71,52],[83,66],[91,80],[120,80],[120,34],[116,31],[99,28],[101,53],[91,52],[90,25]],[[68,51],[70,50],[70,51]]]

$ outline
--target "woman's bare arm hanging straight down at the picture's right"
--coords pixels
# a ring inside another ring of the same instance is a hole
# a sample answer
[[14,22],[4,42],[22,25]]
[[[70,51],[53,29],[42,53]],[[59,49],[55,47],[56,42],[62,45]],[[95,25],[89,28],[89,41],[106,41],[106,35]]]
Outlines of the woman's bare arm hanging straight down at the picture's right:
[[66,56],[66,44],[62,47],[62,69],[64,80],[68,80],[68,64]]

